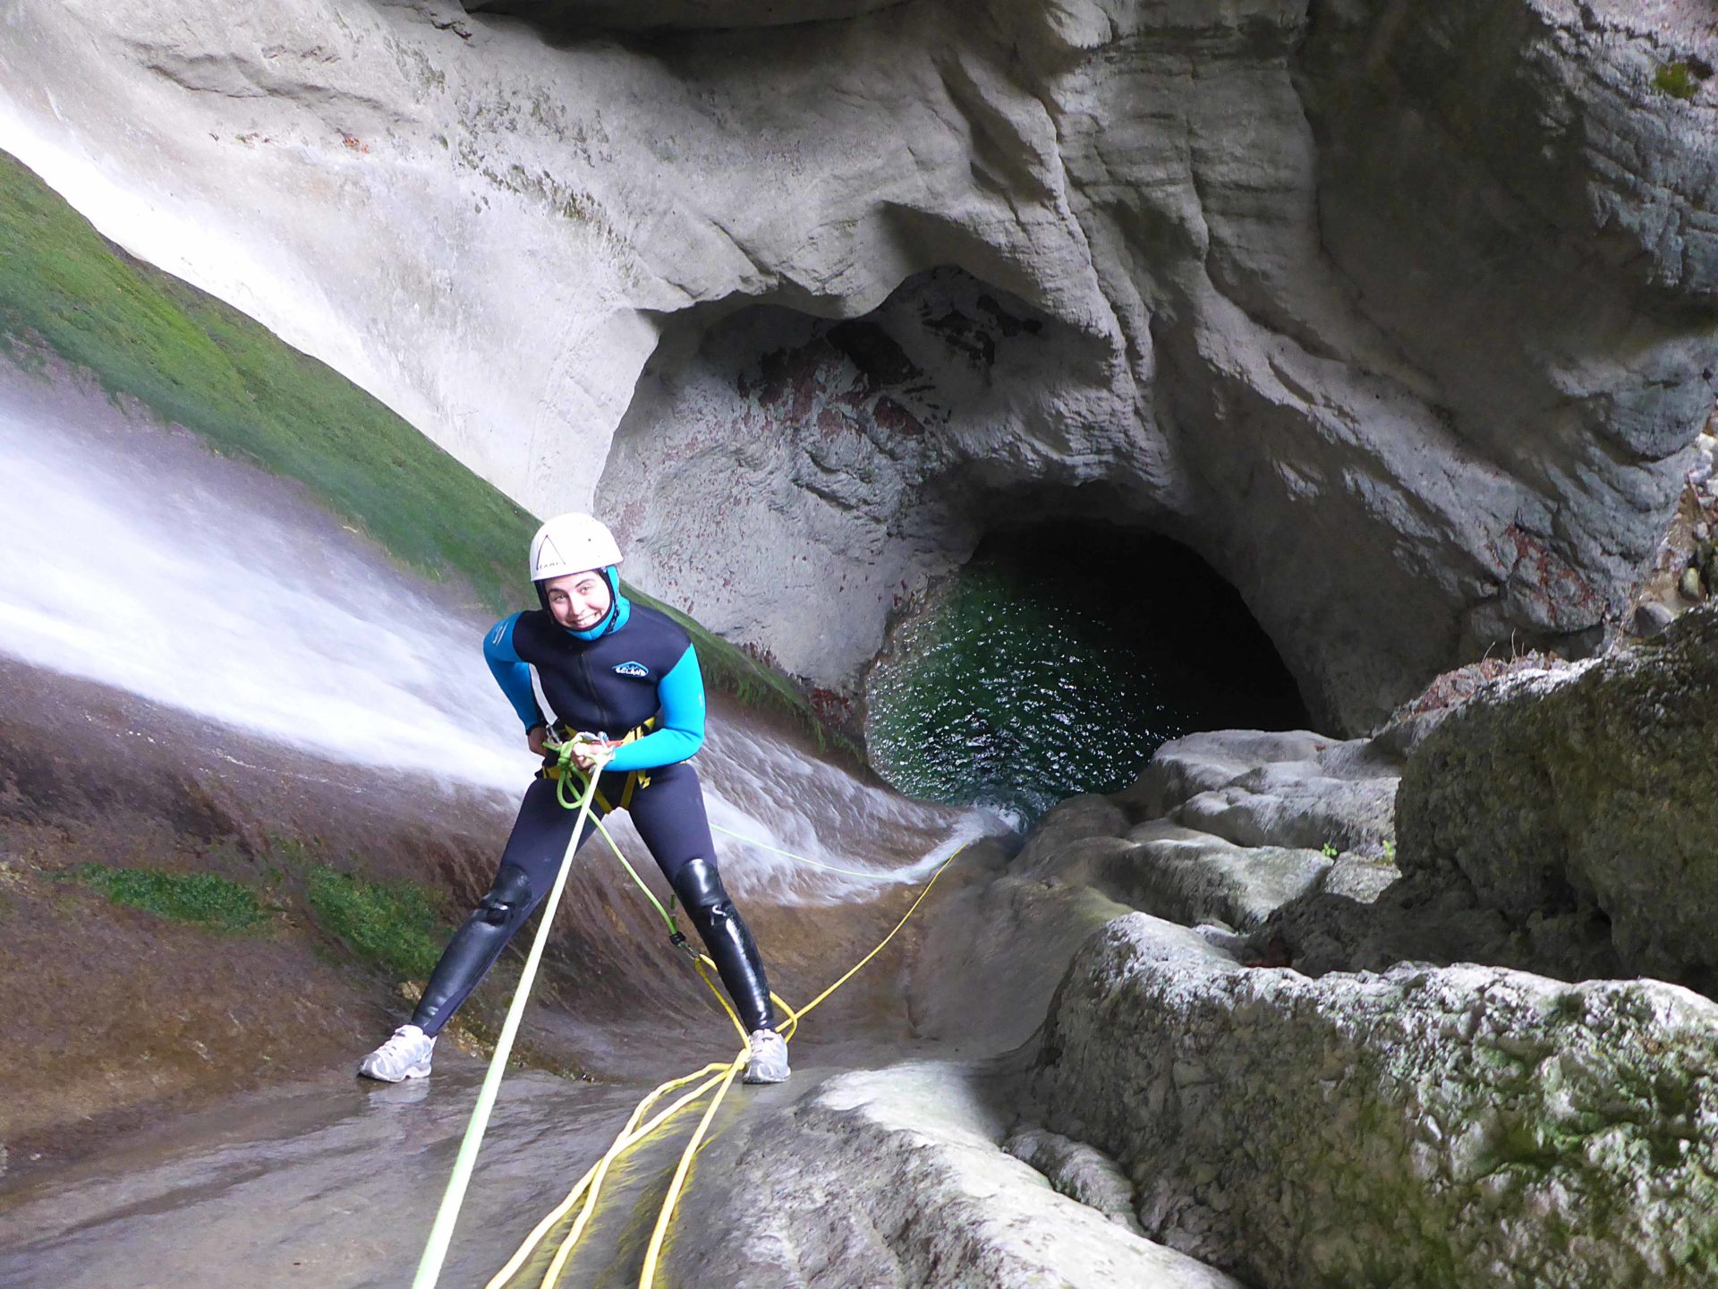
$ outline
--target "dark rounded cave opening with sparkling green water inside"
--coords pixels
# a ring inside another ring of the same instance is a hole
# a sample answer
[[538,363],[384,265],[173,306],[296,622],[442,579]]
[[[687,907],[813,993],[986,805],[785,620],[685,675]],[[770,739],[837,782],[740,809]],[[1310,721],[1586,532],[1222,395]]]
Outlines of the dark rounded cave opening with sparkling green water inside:
[[1168,536],[1089,519],[993,528],[866,682],[885,779],[1020,823],[1127,787],[1168,739],[1304,727],[1234,586]]

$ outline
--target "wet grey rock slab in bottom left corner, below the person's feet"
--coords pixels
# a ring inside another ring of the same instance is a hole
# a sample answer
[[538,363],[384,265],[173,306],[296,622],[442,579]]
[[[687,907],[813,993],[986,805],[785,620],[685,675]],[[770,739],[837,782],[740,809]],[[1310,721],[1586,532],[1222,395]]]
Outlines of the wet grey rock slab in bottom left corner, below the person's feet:
[[[0,1193],[5,1289],[409,1284],[483,1066],[275,1088]],[[636,1088],[509,1076],[443,1284],[483,1284],[608,1145]]]

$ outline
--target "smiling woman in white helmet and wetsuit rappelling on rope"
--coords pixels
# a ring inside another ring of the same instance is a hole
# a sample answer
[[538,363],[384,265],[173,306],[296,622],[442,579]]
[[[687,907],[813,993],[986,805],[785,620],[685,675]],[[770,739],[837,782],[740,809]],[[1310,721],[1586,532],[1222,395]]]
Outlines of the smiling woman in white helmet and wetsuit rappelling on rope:
[[[436,1035],[548,894],[567,854],[574,811],[557,797],[557,744],[594,773],[593,813],[625,809],[710,949],[749,1033],[746,1083],[782,1083],[787,1043],[758,944],[722,887],[704,796],[691,756],[704,742],[704,679],[691,638],[667,614],[620,591],[620,547],[588,514],[550,519],[531,540],[541,608],[502,619],[483,657],[526,725],[545,768],[526,789],[490,892],[454,932],[412,1019],[359,1062],[364,1078],[399,1083],[430,1072]],[[538,706],[531,674],[555,715]],[[606,730],[624,730],[612,741]],[[555,742],[551,742],[551,737]],[[582,844],[594,820],[579,837]]]

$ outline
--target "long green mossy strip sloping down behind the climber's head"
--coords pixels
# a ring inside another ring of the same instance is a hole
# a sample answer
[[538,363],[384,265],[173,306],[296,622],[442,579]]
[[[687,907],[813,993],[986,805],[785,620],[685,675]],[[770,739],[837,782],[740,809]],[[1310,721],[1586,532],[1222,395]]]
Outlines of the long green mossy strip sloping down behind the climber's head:
[[[218,452],[297,480],[407,567],[469,584],[490,612],[527,595],[531,514],[333,368],[107,242],[0,151],[0,351],[29,368],[43,345]],[[857,756],[787,677],[668,612],[711,687]]]

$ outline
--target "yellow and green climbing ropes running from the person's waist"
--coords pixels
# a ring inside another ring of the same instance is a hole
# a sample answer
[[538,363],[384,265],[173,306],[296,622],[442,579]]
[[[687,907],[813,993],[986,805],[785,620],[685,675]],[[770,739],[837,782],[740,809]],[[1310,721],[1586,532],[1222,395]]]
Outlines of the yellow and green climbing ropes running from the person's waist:
[[[644,727],[641,727],[639,730],[632,730],[627,741],[631,741],[632,737],[639,737],[643,734],[643,729]],[[708,1064],[698,1071],[692,1071],[691,1074],[684,1074],[677,1079],[668,1079],[667,1083],[651,1090],[627,1117],[625,1126],[610,1143],[603,1157],[594,1165],[591,1165],[589,1170],[586,1170],[586,1174],[574,1184],[567,1198],[562,1200],[560,1205],[557,1205],[546,1217],[543,1217],[541,1222],[536,1224],[536,1227],[531,1231],[529,1236],[526,1236],[526,1241],[519,1246],[514,1256],[507,1260],[507,1265],[502,1267],[502,1270],[498,1270],[490,1279],[486,1289],[502,1289],[502,1286],[505,1286],[519,1272],[519,1268],[524,1267],[526,1260],[531,1256],[531,1251],[538,1248],[543,1237],[548,1236],[548,1232],[553,1231],[555,1225],[562,1219],[565,1219],[567,1213],[570,1213],[572,1208],[579,1205],[582,1198],[584,1205],[579,1210],[579,1215],[574,1219],[572,1227],[569,1227],[567,1234],[562,1237],[560,1246],[555,1249],[555,1255],[550,1260],[550,1265],[541,1280],[541,1289],[553,1289],[562,1272],[565,1270],[567,1262],[572,1258],[574,1248],[584,1236],[591,1222],[591,1217],[596,1213],[596,1203],[598,1196],[601,1194],[603,1181],[608,1177],[608,1172],[613,1167],[613,1164],[634,1145],[644,1141],[658,1127],[673,1119],[680,1110],[698,1103],[704,1095],[715,1091],[710,1103],[704,1107],[703,1117],[692,1129],[692,1136],[687,1141],[685,1150],[680,1152],[680,1160],[675,1165],[673,1177],[668,1182],[668,1191],[663,1196],[661,1208],[656,1215],[656,1224],[651,1229],[651,1239],[644,1251],[644,1263],[639,1272],[639,1289],[653,1289],[656,1280],[656,1265],[661,1256],[661,1246],[668,1236],[668,1227],[673,1220],[673,1210],[679,1203],[680,1193],[685,1188],[685,1177],[692,1167],[692,1158],[698,1153],[698,1148],[703,1143],[704,1136],[708,1134],[710,1124],[715,1121],[716,1110],[722,1107],[722,1102],[727,1097],[728,1088],[734,1086],[734,1079],[746,1067],[747,1060],[746,1026],[740,1023],[740,1017],[735,1014],[727,995],[723,995],[722,988],[711,978],[711,971],[715,971],[716,966],[715,961],[708,954],[699,952],[691,945],[684,932],[680,932],[679,921],[672,913],[672,901],[670,906],[663,906],[663,902],[656,899],[655,892],[651,892],[651,889],[644,883],[644,878],[639,877],[637,870],[627,861],[625,854],[615,844],[615,839],[613,835],[610,835],[603,820],[600,816],[591,815],[591,804],[598,799],[596,780],[601,775],[601,767],[598,765],[593,773],[586,775],[572,760],[572,754],[576,748],[589,748],[593,744],[601,744],[605,748],[618,746],[618,744],[610,744],[603,736],[588,736],[588,734],[577,734],[560,742],[548,744],[550,751],[555,753],[555,761],[545,767],[543,773],[548,779],[555,779],[557,801],[567,809],[574,808],[579,809],[579,820],[572,830],[572,837],[567,842],[567,854],[562,858],[560,871],[555,877],[555,887],[550,890],[543,911],[543,921],[538,926],[536,940],[533,940],[531,944],[531,954],[526,959],[526,969],[519,978],[519,988],[514,992],[514,1002],[507,1011],[507,1021],[502,1026],[502,1036],[495,1045],[495,1057],[490,1060],[490,1071],[484,1076],[483,1091],[479,1091],[478,1095],[478,1107],[472,1110],[471,1126],[466,1129],[466,1139],[460,1143],[459,1158],[454,1162],[454,1176],[448,1181],[447,1193],[442,1198],[442,1208],[436,1212],[435,1225],[430,1231],[430,1243],[424,1248],[423,1260],[419,1262],[417,1277],[412,1280],[412,1289],[433,1289],[433,1286],[436,1284],[436,1277],[440,1275],[442,1263],[447,1258],[448,1241],[452,1239],[454,1234],[454,1224],[459,1219],[459,1207],[464,1201],[466,1186],[471,1181],[471,1170],[472,1165],[476,1164],[478,1146],[483,1141],[483,1131],[488,1126],[490,1112],[495,1105],[495,1091],[500,1086],[500,1072],[507,1064],[507,1054],[512,1050],[514,1033],[519,1028],[519,1016],[524,1011],[526,995],[529,993],[531,983],[536,976],[538,959],[543,954],[543,945],[548,937],[548,925],[555,914],[555,906],[560,901],[562,887],[567,882],[572,854],[577,849],[579,840],[582,839],[586,818],[589,818],[594,823],[596,832],[601,834],[603,840],[608,844],[608,849],[613,851],[615,858],[620,861],[620,866],[625,870],[627,877],[632,878],[634,885],[637,885],[637,889],[644,894],[644,899],[649,901],[651,907],[661,918],[663,925],[668,928],[670,944],[673,944],[677,949],[687,954],[699,978],[715,995],[716,1002],[722,1004],[722,1011],[727,1012],[728,1021],[734,1023],[734,1029],[740,1038],[740,1050],[739,1055],[735,1055],[728,1062],[718,1060]],[[629,775],[627,791],[622,796],[622,808],[631,799],[631,791],[632,791],[631,779],[632,777]],[[574,799],[574,794],[569,791],[569,785],[576,780],[581,785],[581,794],[577,796],[577,799]],[[739,837],[739,834],[728,832],[727,828],[716,828],[716,832],[723,832],[728,837]],[[833,864],[821,864],[814,859],[806,859],[804,856],[797,856],[792,854],[790,851],[782,851],[773,846],[765,846],[763,842],[756,842],[751,839],[740,839],[740,840],[747,840],[752,846],[759,846],[766,851],[775,851],[777,854],[797,859],[814,868],[826,868],[837,873],[849,873],[852,877],[866,877],[866,878],[886,877],[878,873],[861,873],[857,870],[842,870],[835,868]],[[838,976],[835,983],[832,983],[828,988],[818,993],[818,997],[814,997],[804,1007],[799,1007],[795,1011],[778,993],[771,990],[770,999],[787,1017],[785,1024],[782,1024],[778,1029],[783,1040],[790,1040],[794,1033],[799,1029],[799,1023],[802,1017],[806,1017],[811,1011],[814,1011],[826,999],[830,999],[830,995],[833,995],[835,990],[838,990],[842,985],[852,980],[873,957],[883,952],[888,942],[893,940],[895,935],[900,932],[900,928],[907,925],[907,919],[912,918],[914,913],[917,913],[919,906],[924,902],[924,897],[931,894],[931,887],[936,885],[936,878],[943,875],[948,864],[952,864],[964,849],[966,846],[957,847],[953,852],[948,854],[947,859],[943,859],[936,866],[936,870],[931,873],[931,878],[924,883],[924,889],[919,890],[917,897],[902,914],[900,921],[897,921],[893,928],[890,928],[888,935],[885,935],[876,944],[876,947],[871,949],[871,952],[868,952],[864,957],[854,962],[854,966],[850,966],[845,973],[842,973],[842,976]],[[656,1105],[656,1102],[660,1102],[663,1097],[679,1088],[685,1088],[687,1084],[698,1084],[698,1086],[677,1097],[668,1107],[658,1110],[648,1121],[644,1119],[644,1115],[651,1110],[653,1105]]]

